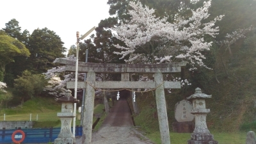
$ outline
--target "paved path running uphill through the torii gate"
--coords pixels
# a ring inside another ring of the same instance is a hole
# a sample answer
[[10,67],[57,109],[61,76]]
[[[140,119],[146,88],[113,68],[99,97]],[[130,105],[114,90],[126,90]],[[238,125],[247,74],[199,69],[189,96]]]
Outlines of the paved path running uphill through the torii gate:
[[[80,144],[82,138],[77,138]],[[99,131],[93,132],[92,144],[152,144],[134,129],[127,101],[118,100],[106,117]]]

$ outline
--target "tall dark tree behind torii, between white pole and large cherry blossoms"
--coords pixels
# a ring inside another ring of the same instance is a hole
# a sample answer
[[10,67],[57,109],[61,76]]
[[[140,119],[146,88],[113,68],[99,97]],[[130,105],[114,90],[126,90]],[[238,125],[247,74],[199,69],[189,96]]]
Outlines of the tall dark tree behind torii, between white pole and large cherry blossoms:
[[[92,35],[91,39],[85,40],[81,44],[79,52],[79,58],[84,60],[84,54],[86,49],[89,51],[88,61],[93,63],[124,63],[123,60],[119,60],[120,56],[113,54],[115,51],[115,44],[122,43],[120,40],[117,40],[113,34],[111,27],[115,26],[118,23],[115,17],[109,17],[108,19],[100,20],[98,27],[95,29],[96,35]],[[109,79],[115,79],[113,74],[97,74],[98,81],[107,81]],[[102,92],[97,90],[96,95],[102,95],[106,112],[109,112],[108,98],[111,97],[111,93]]]

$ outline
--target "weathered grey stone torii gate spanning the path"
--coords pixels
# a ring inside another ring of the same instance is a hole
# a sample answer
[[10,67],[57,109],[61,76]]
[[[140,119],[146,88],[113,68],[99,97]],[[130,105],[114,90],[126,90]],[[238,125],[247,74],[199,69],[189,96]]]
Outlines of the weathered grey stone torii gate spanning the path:
[[[75,72],[76,61],[60,59],[66,65],[66,71]],[[87,72],[86,82],[78,82],[77,88],[86,88],[83,121],[83,144],[92,141],[92,124],[94,108],[94,88],[156,88],[156,104],[161,134],[161,143],[170,144],[170,133],[166,111],[164,88],[180,88],[180,82],[163,81],[163,73],[180,72],[186,62],[164,64],[115,64],[115,63],[83,63],[79,62],[78,72]],[[95,73],[120,73],[122,81],[95,81]],[[154,74],[155,81],[129,81],[129,74]],[[67,83],[67,89],[74,88],[74,82]]]

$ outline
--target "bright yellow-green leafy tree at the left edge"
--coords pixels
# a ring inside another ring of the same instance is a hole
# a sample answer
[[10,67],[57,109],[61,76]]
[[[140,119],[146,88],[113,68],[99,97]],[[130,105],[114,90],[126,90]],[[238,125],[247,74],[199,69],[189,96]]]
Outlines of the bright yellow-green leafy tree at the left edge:
[[0,35],[0,72],[5,74],[6,65],[14,62],[15,56],[28,57],[29,55],[29,50],[19,40],[8,35]]

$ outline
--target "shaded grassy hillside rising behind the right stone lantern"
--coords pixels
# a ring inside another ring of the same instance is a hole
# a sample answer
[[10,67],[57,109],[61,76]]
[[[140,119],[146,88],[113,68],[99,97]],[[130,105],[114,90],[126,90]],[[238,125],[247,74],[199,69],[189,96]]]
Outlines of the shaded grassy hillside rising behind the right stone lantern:
[[[212,95],[212,99],[206,100],[206,108],[211,109],[211,113],[207,115],[207,125],[210,130],[256,131],[256,51],[246,49],[241,45],[243,46],[243,44],[234,46],[232,56],[223,54],[220,58],[220,54],[215,54],[216,61],[212,65],[215,67],[214,70],[182,72],[182,75],[191,81],[191,86],[182,87],[181,90],[172,90],[172,93],[166,91],[170,131],[172,131],[172,122],[175,122],[175,104],[193,94],[196,87],[202,88],[203,93]],[[152,92],[147,92],[138,93],[136,96],[138,96],[137,102],[140,108],[140,115],[134,115],[136,125],[143,127],[146,132],[158,131],[154,95]],[[129,104],[132,109],[131,99],[129,99]]]

